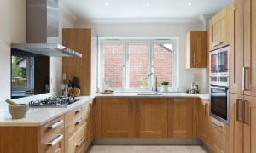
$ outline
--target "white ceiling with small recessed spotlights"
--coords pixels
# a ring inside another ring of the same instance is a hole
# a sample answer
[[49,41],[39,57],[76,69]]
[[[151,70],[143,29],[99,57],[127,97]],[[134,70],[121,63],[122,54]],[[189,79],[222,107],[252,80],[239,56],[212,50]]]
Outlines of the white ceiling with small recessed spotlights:
[[[59,0],[77,20],[199,18],[216,14],[233,0]],[[146,3],[150,2],[150,5]],[[188,5],[192,2],[192,5]],[[104,5],[108,3],[108,6]]]

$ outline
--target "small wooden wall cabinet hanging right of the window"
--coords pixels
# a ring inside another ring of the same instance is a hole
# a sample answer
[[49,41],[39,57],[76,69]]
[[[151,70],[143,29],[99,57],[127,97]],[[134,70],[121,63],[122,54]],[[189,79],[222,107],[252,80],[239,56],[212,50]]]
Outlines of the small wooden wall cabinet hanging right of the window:
[[207,31],[187,33],[186,68],[207,68]]

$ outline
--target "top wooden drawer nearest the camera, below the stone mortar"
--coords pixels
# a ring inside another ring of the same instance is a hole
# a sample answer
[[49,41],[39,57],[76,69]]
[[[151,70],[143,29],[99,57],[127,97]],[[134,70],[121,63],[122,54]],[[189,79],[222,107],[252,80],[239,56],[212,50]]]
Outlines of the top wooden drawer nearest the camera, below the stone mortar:
[[41,140],[49,139],[55,133],[61,131],[64,128],[64,116],[59,116],[54,120],[45,123],[43,126],[40,127],[40,136]]

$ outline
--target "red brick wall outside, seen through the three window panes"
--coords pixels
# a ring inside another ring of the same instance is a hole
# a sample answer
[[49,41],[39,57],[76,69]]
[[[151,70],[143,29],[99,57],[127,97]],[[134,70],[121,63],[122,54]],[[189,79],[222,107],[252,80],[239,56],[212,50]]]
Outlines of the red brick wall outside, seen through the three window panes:
[[[110,88],[122,88],[123,50],[122,44],[104,45],[104,78],[108,79]],[[131,44],[128,54],[129,87],[147,87],[148,46]],[[160,45],[154,45],[154,73],[158,77],[158,86],[162,81],[168,81],[172,87],[172,52]]]

